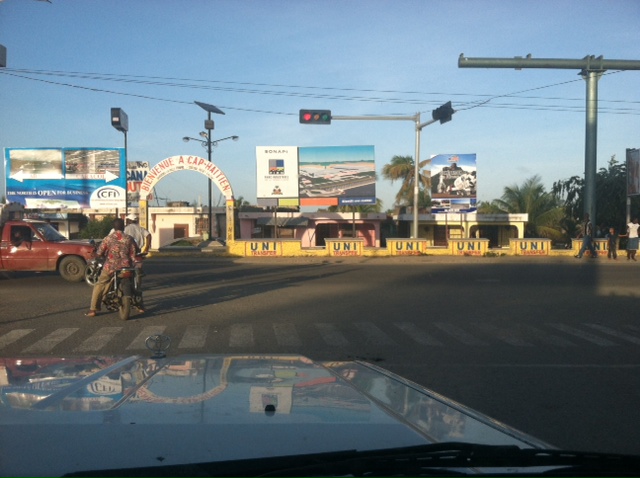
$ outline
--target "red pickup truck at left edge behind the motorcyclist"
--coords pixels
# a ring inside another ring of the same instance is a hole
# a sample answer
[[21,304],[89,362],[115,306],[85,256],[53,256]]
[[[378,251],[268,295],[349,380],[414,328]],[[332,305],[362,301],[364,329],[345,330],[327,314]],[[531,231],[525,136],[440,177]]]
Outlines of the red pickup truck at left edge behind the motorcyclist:
[[0,214],[0,270],[57,270],[64,279],[79,282],[94,251],[91,242],[70,241],[45,221],[3,221]]

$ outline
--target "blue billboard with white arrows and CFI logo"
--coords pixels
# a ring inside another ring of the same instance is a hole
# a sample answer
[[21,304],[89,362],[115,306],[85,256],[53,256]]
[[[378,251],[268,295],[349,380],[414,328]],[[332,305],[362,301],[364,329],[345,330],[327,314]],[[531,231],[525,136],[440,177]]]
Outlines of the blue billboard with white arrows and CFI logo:
[[124,148],[5,148],[7,200],[27,209],[125,208]]

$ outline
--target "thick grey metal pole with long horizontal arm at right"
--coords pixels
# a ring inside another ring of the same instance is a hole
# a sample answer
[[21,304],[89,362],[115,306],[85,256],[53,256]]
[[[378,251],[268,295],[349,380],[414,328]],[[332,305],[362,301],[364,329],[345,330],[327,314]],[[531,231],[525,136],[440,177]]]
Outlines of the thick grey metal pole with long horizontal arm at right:
[[585,56],[579,60],[563,60],[554,58],[466,58],[460,54],[459,68],[547,68],[580,70],[582,78],[587,82],[586,91],[586,126],[584,149],[584,211],[596,219],[596,172],[598,142],[598,80],[607,70],[640,70],[640,61],[605,60],[602,56]]

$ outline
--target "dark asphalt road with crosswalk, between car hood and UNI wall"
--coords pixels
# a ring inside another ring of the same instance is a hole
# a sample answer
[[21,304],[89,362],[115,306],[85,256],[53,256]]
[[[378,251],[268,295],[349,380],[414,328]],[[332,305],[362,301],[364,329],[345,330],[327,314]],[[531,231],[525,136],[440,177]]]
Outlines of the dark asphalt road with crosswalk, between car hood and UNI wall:
[[573,258],[153,257],[148,310],[0,273],[0,356],[302,353],[374,362],[548,443],[640,453],[640,265]]

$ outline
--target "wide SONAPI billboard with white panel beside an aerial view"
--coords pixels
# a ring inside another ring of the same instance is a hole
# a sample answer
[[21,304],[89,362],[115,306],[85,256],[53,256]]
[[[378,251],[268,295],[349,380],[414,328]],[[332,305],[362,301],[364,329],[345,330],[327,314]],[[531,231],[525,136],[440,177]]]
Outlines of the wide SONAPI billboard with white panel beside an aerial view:
[[373,146],[258,147],[258,204],[376,203]]

